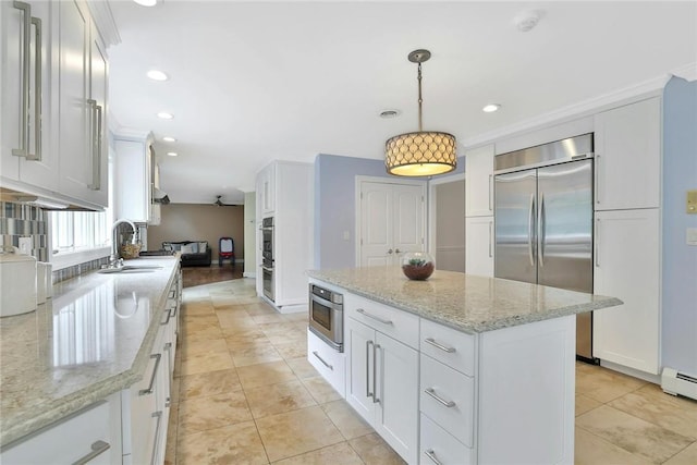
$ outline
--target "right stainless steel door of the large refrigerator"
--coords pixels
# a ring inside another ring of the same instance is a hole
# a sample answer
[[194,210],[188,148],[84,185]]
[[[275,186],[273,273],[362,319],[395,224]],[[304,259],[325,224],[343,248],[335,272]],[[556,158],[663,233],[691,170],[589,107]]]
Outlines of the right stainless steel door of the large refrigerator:
[[537,171],[539,284],[592,292],[592,160]]

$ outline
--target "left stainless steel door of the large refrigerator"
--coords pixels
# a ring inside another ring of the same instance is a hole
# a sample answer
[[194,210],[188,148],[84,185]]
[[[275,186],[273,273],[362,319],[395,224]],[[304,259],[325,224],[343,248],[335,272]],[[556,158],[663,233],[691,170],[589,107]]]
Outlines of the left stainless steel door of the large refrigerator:
[[496,176],[494,276],[537,282],[536,170]]

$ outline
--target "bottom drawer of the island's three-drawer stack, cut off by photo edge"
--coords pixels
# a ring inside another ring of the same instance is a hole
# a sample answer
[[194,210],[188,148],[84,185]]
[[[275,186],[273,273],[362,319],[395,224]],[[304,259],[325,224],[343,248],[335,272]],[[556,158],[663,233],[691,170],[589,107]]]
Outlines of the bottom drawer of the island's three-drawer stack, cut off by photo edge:
[[474,463],[474,451],[421,414],[421,465],[467,465]]

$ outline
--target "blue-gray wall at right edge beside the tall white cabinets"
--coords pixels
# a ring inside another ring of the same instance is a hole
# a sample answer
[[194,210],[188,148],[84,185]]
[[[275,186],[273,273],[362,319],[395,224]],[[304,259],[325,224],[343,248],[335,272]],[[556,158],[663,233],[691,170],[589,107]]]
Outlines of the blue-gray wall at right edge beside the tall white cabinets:
[[697,246],[686,244],[697,215],[697,82],[673,77],[663,90],[663,366],[697,375]]

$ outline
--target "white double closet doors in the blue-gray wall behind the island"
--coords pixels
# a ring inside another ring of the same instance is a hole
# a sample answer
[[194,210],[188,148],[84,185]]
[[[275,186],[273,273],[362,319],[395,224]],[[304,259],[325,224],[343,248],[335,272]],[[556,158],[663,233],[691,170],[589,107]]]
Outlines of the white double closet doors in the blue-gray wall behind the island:
[[424,183],[359,183],[359,267],[396,265],[424,249]]

